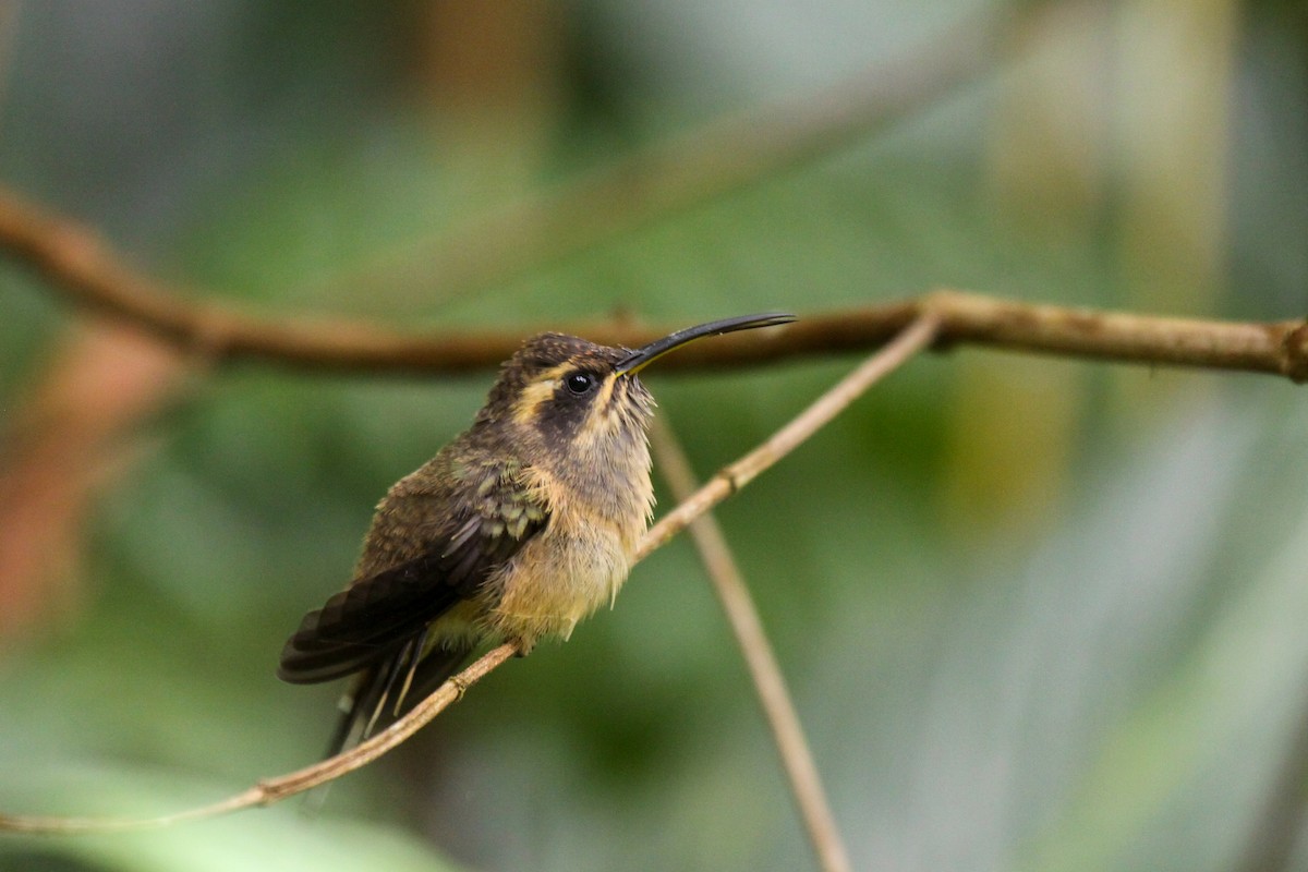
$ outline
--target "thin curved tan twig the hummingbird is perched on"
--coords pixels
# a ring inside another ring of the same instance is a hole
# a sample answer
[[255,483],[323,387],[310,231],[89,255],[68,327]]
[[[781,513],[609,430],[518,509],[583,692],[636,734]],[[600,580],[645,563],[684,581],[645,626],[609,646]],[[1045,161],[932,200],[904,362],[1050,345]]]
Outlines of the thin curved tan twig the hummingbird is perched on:
[[[836,417],[841,409],[853,403],[859,394],[871,387],[882,377],[893,371],[913,354],[931,344],[937,323],[933,318],[914,322],[904,333],[884,349],[874,354],[853,373],[836,383],[815,403],[799,413],[790,424],[761,446],[719,471],[693,497],[683,501],[674,511],[646,532],[637,548],[633,562],[644,560],[650,552],[663,545],[681,528],[701,514],[735,493],[760,472],[774,464],[782,456],[798,447],[823,425]],[[502,645],[467,669],[441,685],[432,696],[413,707],[412,711],[373,736],[361,745],[298,771],[277,778],[260,780],[247,791],[225,800],[187,809],[175,814],[152,818],[112,818],[112,817],[43,817],[24,814],[0,814],[0,833],[102,833],[166,826],[182,821],[213,817],[254,805],[272,803],[301,794],[306,790],[340,778],[395,748],[408,736],[417,732],[436,715],[456,702],[463,692],[508,660],[515,648]]]

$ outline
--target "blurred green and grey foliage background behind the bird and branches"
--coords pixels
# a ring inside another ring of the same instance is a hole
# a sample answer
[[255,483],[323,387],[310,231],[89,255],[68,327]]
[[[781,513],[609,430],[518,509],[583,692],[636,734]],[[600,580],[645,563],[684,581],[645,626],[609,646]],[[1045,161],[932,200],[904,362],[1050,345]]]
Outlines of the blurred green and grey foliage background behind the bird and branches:
[[[196,301],[525,333],[942,285],[1308,310],[1292,0],[0,10],[0,183]],[[451,278],[481,216],[978,48],[969,81],[785,171]],[[12,264],[0,289],[0,811],[166,813],[311,762],[336,688],[280,684],[281,642],[490,373],[212,369]],[[706,473],[853,362],[647,380]],[[726,503],[855,867],[1308,869],[1305,433],[1273,378],[960,349]],[[297,805],[4,837],[0,869],[812,865],[681,540],[317,818]]]

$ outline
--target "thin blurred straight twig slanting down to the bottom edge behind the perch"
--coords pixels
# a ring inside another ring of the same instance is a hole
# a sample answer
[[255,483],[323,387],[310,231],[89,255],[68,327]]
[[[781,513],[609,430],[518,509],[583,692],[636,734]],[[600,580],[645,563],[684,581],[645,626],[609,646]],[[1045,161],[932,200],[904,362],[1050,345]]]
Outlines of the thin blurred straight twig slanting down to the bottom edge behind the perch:
[[[698,484],[695,481],[691,461],[667,424],[666,416],[654,421],[650,442],[659,471],[672,495],[679,502],[688,499]],[[713,590],[722,603],[727,622],[735,633],[736,645],[740,646],[759,703],[772,728],[772,739],[781,756],[782,767],[790,779],[790,792],[799,807],[808,839],[818,855],[818,863],[824,872],[849,872],[849,851],[836,826],[836,816],[823,790],[818,765],[799,723],[799,714],[795,711],[786,679],[763,629],[763,618],[731,554],[722,527],[712,512],[704,512],[691,522],[691,537],[713,582]]]

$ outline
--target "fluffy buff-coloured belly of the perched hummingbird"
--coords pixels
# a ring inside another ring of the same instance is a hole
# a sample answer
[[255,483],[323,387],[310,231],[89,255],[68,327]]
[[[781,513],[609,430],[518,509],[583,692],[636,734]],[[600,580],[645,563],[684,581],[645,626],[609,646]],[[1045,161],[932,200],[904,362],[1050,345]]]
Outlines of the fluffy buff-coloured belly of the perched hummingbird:
[[612,604],[630,569],[630,533],[559,520],[509,562],[488,614],[496,633],[528,648],[542,637],[566,639],[578,621]]

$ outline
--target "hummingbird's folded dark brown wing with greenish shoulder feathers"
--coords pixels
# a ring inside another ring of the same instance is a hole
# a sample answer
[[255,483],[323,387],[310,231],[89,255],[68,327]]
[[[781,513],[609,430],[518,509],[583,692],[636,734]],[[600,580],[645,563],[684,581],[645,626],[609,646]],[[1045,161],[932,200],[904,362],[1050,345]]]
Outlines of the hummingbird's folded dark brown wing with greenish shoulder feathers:
[[473,596],[549,522],[548,507],[517,473],[505,465],[480,469],[466,512],[419,557],[357,579],[306,614],[281,651],[277,676],[315,684],[357,672],[398,654]]

